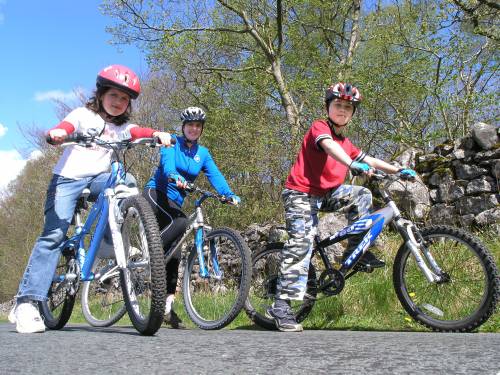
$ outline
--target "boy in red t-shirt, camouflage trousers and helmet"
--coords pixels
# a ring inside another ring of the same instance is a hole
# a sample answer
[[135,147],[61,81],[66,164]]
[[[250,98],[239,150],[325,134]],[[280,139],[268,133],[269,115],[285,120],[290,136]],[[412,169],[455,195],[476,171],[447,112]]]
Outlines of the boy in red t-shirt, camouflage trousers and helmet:
[[[326,90],[328,117],[313,122],[286,180],[282,199],[289,239],[282,252],[276,300],[266,312],[275,320],[280,331],[302,330],[290,308],[290,300],[304,298],[318,210],[344,208],[351,223],[371,209],[370,190],[362,186],[343,185],[347,171],[350,169],[355,174],[369,175],[371,168],[376,168],[386,173],[415,176],[413,170],[400,170],[366,155],[344,136],[360,101],[359,90],[347,83],[337,83]],[[344,258],[361,239],[348,242]],[[374,268],[384,266],[384,262],[369,251],[365,252],[360,262]]]

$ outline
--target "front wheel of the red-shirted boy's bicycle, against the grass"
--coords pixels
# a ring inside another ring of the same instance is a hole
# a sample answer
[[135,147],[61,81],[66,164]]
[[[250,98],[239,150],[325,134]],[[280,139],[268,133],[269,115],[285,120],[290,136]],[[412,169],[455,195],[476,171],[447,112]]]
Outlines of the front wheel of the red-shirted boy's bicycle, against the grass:
[[421,234],[449,280],[430,284],[402,245],[393,269],[399,301],[414,320],[434,331],[473,331],[493,314],[499,299],[493,257],[479,239],[459,228],[433,225]]

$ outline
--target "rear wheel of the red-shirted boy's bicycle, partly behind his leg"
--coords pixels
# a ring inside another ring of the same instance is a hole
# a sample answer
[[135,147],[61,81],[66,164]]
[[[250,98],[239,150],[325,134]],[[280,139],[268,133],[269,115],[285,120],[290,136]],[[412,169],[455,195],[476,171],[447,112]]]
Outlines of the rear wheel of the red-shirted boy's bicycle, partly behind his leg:
[[[270,243],[265,249],[254,254],[252,259],[252,284],[244,308],[250,320],[268,330],[277,330],[274,320],[267,318],[265,312],[276,296],[283,246],[281,242]],[[316,270],[311,262],[306,295],[302,301],[292,301],[292,310],[297,322],[302,322],[309,315],[314,307],[316,295]]]

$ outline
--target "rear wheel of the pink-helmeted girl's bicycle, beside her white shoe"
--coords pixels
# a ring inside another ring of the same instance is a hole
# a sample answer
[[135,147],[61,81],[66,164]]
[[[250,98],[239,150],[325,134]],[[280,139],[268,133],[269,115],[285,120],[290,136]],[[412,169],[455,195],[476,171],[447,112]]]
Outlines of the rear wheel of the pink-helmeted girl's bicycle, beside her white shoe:
[[[55,274],[66,274],[70,262],[74,264],[75,258],[61,253]],[[38,310],[47,328],[58,330],[68,323],[75,305],[75,297],[76,292],[70,294],[68,285],[65,285],[64,281],[52,281],[47,293],[47,300],[38,301]]]

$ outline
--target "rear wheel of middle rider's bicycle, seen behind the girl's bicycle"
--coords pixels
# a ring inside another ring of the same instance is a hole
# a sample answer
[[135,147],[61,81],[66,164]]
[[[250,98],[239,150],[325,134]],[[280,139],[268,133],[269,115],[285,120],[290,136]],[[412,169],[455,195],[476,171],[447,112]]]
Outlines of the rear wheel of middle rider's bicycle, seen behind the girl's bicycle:
[[94,327],[109,327],[127,312],[116,260],[96,258],[92,272],[94,280],[83,283],[83,316]]

